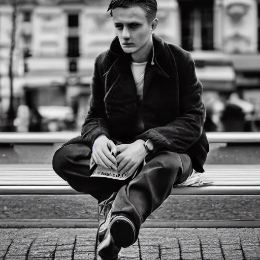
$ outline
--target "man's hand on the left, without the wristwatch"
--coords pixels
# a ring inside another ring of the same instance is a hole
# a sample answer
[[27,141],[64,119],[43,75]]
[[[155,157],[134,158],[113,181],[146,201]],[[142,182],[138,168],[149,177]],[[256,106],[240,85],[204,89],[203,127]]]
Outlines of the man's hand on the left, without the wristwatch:
[[116,154],[116,145],[105,135],[100,135],[95,139],[92,147],[92,157],[96,164],[108,169],[117,170],[117,161],[112,152]]

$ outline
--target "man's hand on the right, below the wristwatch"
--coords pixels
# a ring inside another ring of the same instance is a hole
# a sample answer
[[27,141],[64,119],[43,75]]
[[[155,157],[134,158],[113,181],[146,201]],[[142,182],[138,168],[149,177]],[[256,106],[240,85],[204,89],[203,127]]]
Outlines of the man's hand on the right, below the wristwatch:
[[133,174],[148,154],[143,140],[137,140],[132,144],[117,145],[116,150],[120,153],[116,156],[117,170],[120,174],[127,171],[129,175]]

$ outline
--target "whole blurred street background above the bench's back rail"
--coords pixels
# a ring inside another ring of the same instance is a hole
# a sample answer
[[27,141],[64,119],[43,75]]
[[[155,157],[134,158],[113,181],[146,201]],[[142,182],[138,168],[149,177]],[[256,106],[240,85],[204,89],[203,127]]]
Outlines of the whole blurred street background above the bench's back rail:
[[[0,0],[0,131],[80,131],[108,0]],[[207,132],[260,129],[260,1],[159,0],[155,34],[191,52]]]

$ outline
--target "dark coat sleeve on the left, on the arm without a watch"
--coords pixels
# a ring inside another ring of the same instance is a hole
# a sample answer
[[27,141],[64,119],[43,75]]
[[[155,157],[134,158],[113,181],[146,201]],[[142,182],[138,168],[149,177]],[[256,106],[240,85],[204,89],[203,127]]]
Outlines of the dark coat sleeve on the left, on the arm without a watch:
[[99,68],[99,62],[101,61],[101,55],[96,57],[94,63],[94,70],[91,80],[91,95],[89,102],[89,111],[82,125],[81,136],[84,142],[88,143],[92,148],[95,139],[100,135],[105,135],[110,139],[107,116],[105,112],[104,104],[104,83],[102,81],[102,75]]

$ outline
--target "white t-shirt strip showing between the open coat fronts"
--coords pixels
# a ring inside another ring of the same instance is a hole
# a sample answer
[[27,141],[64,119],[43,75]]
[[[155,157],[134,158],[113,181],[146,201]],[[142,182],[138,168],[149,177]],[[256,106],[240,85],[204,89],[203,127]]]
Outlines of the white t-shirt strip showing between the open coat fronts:
[[146,68],[146,62],[137,63],[132,62],[131,70],[135,79],[136,88],[137,88],[137,96],[138,96],[138,118],[136,124],[136,131],[142,132],[144,130],[144,123],[142,119],[142,100],[143,100],[143,91],[144,91],[144,74]]

